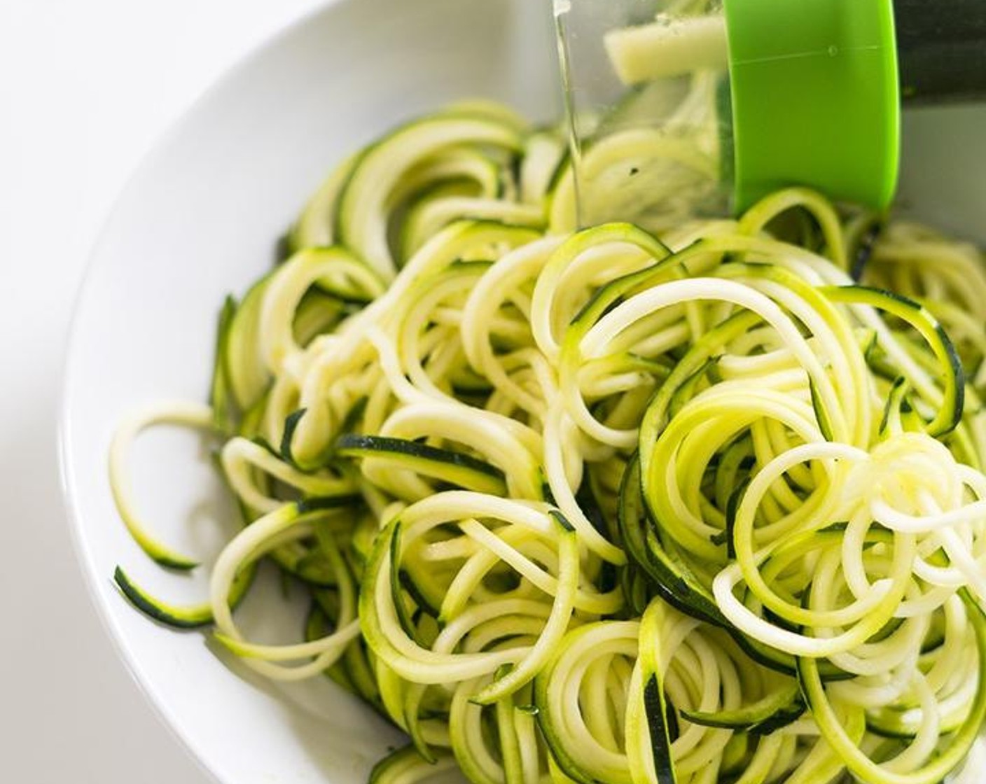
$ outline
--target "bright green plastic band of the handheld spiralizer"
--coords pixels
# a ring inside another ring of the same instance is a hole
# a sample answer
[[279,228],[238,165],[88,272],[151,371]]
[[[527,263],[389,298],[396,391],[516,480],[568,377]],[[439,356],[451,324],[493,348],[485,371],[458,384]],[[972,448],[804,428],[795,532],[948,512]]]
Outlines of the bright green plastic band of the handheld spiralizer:
[[900,159],[891,0],[725,0],[735,206],[792,184],[885,209]]

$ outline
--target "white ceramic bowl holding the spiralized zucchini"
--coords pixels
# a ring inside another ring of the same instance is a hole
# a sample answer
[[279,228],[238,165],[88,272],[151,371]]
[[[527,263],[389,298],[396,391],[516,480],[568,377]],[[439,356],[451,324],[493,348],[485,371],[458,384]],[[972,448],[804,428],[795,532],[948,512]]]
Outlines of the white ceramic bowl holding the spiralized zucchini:
[[[62,462],[91,588],[123,659],[165,721],[228,784],[362,784],[397,735],[317,678],[290,688],[250,677],[208,647],[134,611],[111,582],[123,565],[176,599],[201,575],[164,574],[123,530],[106,485],[114,423],[162,397],[202,399],[218,307],[272,258],[277,238],[340,157],[394,122],[463,98],[539,118],[559,106],[547,0],[343,0],[276,37],[176,126],[120,199],[95,252],[66,371]],[[908,119],[902,199],[946,228],[986,239],[986,112]],[[149,434],[136,451],[145,516],[208,559],[229,524],[202,446]],[[191,519],[191,524],[189,524]],[[269,578],[270,575],[267,575]],[[260,593],[260,592],[256,592]],[[277,604],[277,603],[275,603]],[[262,600],[260,636],[297,633]]]

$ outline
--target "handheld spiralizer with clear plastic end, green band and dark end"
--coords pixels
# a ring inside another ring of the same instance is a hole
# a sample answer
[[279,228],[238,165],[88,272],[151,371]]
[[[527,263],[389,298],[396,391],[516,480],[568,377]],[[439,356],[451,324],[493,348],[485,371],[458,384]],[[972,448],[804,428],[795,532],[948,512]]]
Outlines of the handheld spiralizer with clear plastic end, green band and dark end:
[[583,222],[628,203],[659,224],[736,212],[789,185],[883,210],[902,107],[986,96],[986,0],[555,0],[555,16]]

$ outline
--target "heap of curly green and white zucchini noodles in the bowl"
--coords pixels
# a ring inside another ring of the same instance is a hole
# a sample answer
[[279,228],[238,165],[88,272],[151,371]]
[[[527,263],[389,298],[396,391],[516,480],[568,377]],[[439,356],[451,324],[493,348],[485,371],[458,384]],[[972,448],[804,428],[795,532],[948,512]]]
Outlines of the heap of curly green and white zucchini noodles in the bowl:
[[[362,696],[409,737],[375,782],[947,779],[986,718],[981,254],[801,189],[571,232],[570,178],[485,104],[344,163],[224,307],[210,405],[116,434],[181,569],[127,447],[218,440],[209,597],[121,591]],[[237,625],[260,561],[309,589],[298,642]]]

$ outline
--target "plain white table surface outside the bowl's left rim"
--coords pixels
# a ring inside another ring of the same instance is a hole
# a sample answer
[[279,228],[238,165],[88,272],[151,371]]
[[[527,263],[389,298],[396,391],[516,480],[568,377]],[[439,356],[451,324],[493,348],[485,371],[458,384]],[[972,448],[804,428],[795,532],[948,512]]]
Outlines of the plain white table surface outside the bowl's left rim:
[[205,784],[118,659],[62,509],[75,290],[169,124],[320,0],[0,0],[0,780]]

